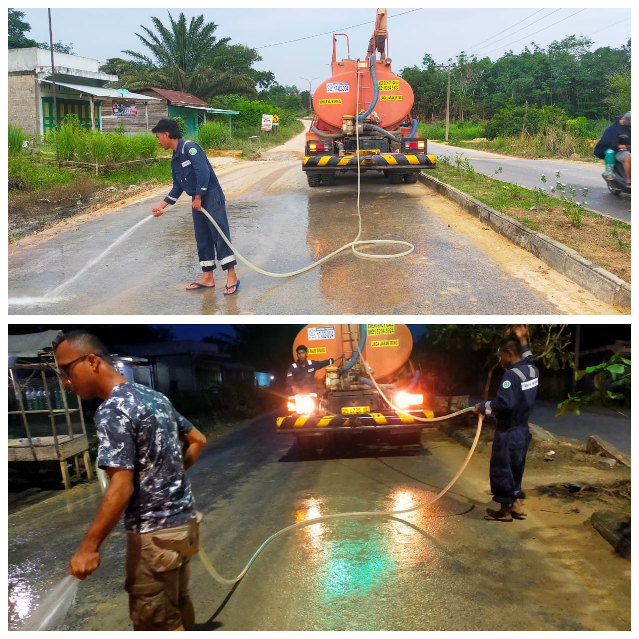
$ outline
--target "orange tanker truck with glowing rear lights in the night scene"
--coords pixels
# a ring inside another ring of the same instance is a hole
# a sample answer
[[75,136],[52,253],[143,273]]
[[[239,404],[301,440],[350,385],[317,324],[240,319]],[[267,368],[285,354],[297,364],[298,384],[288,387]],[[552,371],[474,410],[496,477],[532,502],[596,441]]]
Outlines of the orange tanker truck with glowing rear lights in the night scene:
[[315,371],[316,392],[288,398],[287,414],[277,418],[277,433],[294,435],[302,450],[325,448],[339,438],[420,443],[427,422],[414,416],[433,417],[433,412],[424,408],[406,325],[309,324],[293,342],[293,358],[300,344],[307,346],[309,360],[332,358],[341,365]]

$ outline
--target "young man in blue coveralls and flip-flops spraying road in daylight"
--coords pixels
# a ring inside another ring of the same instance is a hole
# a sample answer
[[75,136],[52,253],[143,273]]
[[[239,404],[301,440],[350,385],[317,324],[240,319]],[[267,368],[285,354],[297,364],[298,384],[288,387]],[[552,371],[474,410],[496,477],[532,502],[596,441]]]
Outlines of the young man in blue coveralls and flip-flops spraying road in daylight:
[[213,167],[201,146],[190,140],[184,141],[180,134],[178,123],[173,119],[161,119],[151,132],[157,137],[160,146],[173,149],[171,157],[171,173],[173,174],[173,189],[160,204],[153,209],[153,215],[160,217],[168,204],[175,204],[182,192],[193,198],[192,215],[193,227],[196,233],[197,254],[202,267],[202,277],[197,282],[191,282],[187,291],[200,288],[213,288],[213,270],[215,269],[215,254],[226,271],[226,286],[224,295],[233,295],[240,289],[240,281],[235,274],[235,255],[229,248],[211,220],[204,215],[204,208],[219,224],[224,235],[231,240],[229,222],[226,219],[226,198],[222,187],[213,173]]

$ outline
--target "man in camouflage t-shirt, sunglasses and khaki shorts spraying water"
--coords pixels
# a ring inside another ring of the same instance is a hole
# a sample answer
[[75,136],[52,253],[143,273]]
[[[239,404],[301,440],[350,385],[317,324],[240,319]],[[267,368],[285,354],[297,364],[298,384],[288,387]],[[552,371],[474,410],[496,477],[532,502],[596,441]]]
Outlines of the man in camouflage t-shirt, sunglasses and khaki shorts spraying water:
[[[74,331],[54,348],[65,385],[82,399],[104,399],[95,413],[98,466],[110,479],[69,573],[84,579],[97,569],[100,544],[125,513],[125,588],[134,629],[190,630],[189,559],[199,525],[185,470],[206,439],[164,395],[118,373],[95,335]],[[184,456],[180,437],[188,444]]]

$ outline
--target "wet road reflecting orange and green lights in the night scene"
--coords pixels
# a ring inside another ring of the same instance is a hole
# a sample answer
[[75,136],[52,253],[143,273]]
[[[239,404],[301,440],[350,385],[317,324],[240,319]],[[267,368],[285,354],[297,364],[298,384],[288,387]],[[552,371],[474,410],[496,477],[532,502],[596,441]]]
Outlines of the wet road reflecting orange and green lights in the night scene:
[[[428,430],[423,449],[298,456],[273,417],[231,433],[189,472],[201,543],[227,578],[277,530],[335,512],[404,509],[435,495],[467,450]],[[529,512],[483,520],[488,454],[429,511],[343,519],[275,539],[229,589],[192,560],[200,630],[612,630],[630,627],[630,564],[583,524],[553,533]],[[99,500],[79,486],[9,516],[10,629],[65,573]],[[547,507],[547,506],[546,506]],[[578,541],[576,541],[578,540]],[[121,525],[82,583],[69,630],[130,629]]]

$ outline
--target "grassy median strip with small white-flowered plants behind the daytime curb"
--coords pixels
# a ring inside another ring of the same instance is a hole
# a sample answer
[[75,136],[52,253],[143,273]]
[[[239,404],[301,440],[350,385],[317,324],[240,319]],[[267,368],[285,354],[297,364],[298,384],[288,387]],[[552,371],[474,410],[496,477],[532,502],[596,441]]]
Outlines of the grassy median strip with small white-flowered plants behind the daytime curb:
[[509,215],[529,229],[566,244],[584,258],[630,282],[629,224],[585,210],[581,215],[581,226],[576,227],[564,213],[564,200],[446,162],[450,162],[450,158],[438,158],[436,170],[428,175]]

